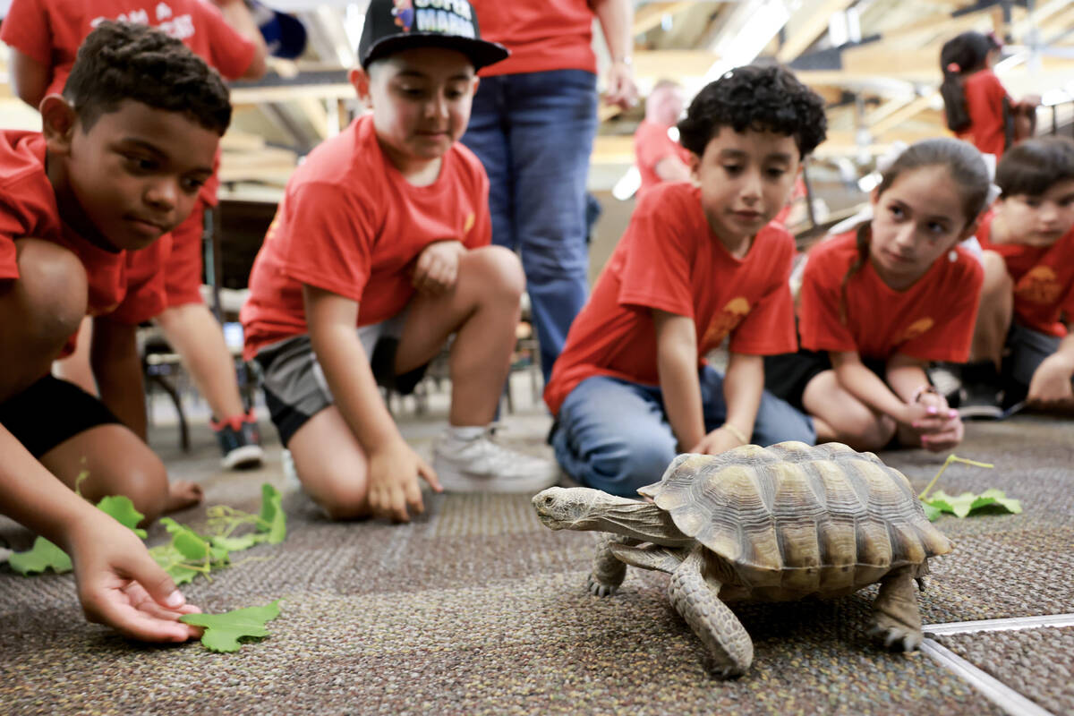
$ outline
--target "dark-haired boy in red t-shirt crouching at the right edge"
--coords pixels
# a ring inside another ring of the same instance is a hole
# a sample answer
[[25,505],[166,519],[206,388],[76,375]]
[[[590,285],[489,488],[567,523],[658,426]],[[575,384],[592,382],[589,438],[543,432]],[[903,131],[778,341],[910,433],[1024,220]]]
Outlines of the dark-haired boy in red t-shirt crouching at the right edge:
[[998,418],[1022,400],[1074,410],[1074,142],[1019,144],[1003,155],[996,182],[1003,193],[977,239],[997,260],[985,263],[959,410]]

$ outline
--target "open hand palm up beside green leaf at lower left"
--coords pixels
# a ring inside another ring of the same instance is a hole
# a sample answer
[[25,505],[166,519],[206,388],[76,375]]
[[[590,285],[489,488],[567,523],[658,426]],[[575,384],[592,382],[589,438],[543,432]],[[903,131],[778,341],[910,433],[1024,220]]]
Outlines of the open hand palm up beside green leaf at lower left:
[[[93,514],[96,513],[96,514]],[[184,642],[201,629],[178,620],[201,610],[187,604],[175,582],[127,527],[92,510],[67,530],[66,544],[86,618],[125,637]]]

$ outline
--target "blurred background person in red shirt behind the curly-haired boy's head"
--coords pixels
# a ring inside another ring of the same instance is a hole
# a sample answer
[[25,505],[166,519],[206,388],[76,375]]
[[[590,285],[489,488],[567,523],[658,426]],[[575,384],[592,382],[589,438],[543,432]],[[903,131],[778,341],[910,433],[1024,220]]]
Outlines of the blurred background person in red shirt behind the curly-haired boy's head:
[[634,133],[634,162],[641,175],[639,192],[661,181],[690,180],[690,151],[668,135],[682,107],[682,85],[673,79],[661,79],[645,98],[645,118]]

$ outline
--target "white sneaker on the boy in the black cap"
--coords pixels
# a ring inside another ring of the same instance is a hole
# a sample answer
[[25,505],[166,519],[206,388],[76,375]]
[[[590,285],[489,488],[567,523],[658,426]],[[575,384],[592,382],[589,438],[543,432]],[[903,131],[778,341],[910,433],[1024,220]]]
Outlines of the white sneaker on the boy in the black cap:
[[560,480],[554,461],[505,448],[491,429],[473,440],[441,437],[433,448],[433,469],[454,493],[536,493]]

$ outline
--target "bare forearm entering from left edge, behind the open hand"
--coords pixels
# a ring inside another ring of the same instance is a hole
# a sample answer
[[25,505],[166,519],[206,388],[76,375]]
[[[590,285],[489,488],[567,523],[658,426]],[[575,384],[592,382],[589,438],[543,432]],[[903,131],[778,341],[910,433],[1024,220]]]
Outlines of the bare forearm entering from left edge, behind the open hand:
[[[90,507],[0,425],[0,512],[66,547],[69,527]],[[91,509],[91,508],[90,508]]]

